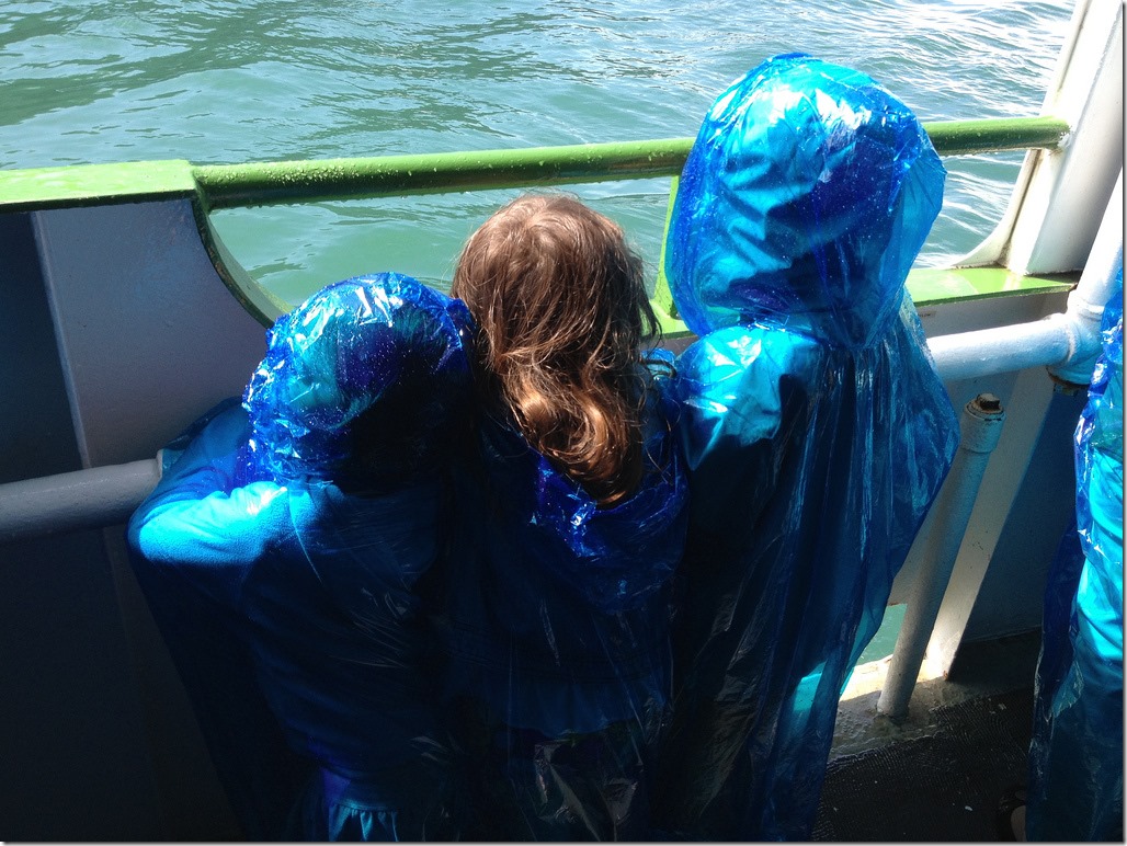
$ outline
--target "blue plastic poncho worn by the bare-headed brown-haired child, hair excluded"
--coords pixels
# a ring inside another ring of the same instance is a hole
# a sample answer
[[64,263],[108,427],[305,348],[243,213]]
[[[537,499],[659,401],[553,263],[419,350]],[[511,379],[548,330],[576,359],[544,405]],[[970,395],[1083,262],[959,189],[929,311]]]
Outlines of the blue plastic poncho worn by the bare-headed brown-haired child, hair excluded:
[[648,839],[687,516],[662,369],[646,377],[644,479],[614,507],[489,412],[460,463],[444,702],[464,839]]

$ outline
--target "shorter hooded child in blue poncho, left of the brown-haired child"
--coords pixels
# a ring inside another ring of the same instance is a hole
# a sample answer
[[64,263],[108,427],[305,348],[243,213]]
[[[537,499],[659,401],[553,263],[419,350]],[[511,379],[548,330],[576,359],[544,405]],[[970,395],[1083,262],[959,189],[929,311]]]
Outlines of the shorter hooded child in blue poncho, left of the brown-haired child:
[[130,522],[250,839],[453,832],[427,614],[470,337],[462,303],[408,277],[323,288],[268,332],[242,406],[174,443]]

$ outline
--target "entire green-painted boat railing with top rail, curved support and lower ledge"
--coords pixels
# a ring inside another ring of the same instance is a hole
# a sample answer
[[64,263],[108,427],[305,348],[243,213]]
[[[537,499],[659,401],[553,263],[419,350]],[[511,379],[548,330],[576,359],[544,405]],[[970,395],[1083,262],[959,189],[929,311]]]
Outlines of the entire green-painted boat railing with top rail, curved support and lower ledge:
[[[1066,121],[1054,116],[948,121],[924,124],[941,155],[1014,150],[1062,150]],[[212,212],[425,194],[560,187],[667,177],[671,202],[693,139],[573,144],[524,150],[481,150],[415,155],[192,164],[183,160],[69,166],[0,171],[0,212],[50,211],[86,205],[190,198],[197,224],[221,277],[240,302],[269,326],[289,304],[258,285],[212,226]],[[660,265],[660,262],[659,262]],[[916,270],[909,291],[917,304],[966,296],[1063,290],[1068,282],[983,267],[973,274]],[[663,335],[687,335],[664,273],[654,285]]]

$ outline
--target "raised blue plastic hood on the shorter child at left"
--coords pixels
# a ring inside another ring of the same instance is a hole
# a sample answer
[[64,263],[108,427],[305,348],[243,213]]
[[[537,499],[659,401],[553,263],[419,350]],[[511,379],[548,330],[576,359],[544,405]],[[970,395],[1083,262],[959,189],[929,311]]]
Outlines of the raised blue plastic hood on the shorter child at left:
[[[400,483],[433,469],[470,402],[471,324],[464,303],[409,276],[322,288],[268,332],[243,397],[254,462],[275,480],[363,473]],[[365,452],[362,469],[344,462]]]

